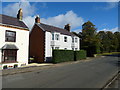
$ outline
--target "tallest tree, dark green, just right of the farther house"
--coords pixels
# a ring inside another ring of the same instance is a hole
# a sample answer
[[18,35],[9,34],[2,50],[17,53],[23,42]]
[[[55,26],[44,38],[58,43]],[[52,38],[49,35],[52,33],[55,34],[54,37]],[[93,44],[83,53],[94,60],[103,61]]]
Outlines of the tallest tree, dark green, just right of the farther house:
[[96,36],[95,25],[90,21],[82,25],[81,49],[85,49],[88,56],[93,56],[100,52],[100,40]]

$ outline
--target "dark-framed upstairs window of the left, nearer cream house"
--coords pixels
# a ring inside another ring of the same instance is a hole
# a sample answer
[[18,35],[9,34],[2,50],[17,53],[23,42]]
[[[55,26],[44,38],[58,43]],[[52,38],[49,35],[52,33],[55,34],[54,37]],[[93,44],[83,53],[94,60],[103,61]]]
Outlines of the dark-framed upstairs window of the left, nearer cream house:
[[16,32],[6,30],[5,41],[6,42],[16,42]]

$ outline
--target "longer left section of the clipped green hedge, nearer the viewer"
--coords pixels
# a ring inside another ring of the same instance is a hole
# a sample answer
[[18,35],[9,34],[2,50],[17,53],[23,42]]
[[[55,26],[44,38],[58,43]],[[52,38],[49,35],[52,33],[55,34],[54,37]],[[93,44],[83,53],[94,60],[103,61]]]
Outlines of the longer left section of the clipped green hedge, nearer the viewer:
[[74,61],[73,50],[53,50],[53,63]]

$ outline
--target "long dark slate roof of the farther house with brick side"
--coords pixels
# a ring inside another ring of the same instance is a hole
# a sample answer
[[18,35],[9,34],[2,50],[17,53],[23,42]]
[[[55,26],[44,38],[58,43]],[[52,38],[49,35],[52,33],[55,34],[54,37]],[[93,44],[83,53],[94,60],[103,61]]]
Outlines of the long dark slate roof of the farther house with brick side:
[[58,27],[43,24],[43,23],[40,23],[40,24],[37,24],[37,25],[40,28],[42,28],[42,29],[44,29],[45,31],[48,31],[48,32],[59,32],[59,33],[64,34],[64,35],[76,36],[73,33],[67,31],[66,29],[58,28]]

